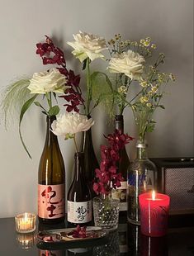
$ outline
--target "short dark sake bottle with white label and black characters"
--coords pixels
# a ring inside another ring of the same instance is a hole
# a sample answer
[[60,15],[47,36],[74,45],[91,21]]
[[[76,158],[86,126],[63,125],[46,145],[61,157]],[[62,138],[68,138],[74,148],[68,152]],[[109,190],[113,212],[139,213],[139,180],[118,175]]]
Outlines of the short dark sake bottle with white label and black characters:
[[92,220],[92,196],[84,176],[84,154],[75,153],[74,178],[68,192],[68,222],[88,225]]

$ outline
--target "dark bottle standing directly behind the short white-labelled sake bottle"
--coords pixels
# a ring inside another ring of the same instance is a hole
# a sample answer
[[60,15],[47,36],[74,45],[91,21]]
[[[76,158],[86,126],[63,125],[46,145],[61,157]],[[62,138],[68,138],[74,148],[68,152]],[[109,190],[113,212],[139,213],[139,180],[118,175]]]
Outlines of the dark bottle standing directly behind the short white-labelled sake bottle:
[[[91,118],[91,116],[88,116],[88,119],[89,118]],[[80,151],[84,153],[84,175],[88,181],[92,197],[95,197],[96,194],[93,191],[92,185],[96,174],[95,169],[99,168],[99,164],[93,149],[91,128],[89,130],[83,131]]]

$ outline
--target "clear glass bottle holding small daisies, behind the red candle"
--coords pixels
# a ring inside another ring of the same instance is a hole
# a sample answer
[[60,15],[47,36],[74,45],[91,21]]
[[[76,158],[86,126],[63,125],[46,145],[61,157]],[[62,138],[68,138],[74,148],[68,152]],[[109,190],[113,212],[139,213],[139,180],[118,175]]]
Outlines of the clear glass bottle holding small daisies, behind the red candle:
[[140,225],[139,195],[143,192],[156,190],[157,169],[147,156],[145,141],[137,141],[137,156],[130,164],[127,178],[127,219],[130,223]]

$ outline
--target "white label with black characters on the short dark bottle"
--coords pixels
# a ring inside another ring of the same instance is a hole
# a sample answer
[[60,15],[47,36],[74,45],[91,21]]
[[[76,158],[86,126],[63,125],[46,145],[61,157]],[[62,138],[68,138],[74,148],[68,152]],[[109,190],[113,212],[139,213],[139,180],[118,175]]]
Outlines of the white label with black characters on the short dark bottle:
[[92,201],[68,201],[68,221],[87,223],[92,220]]

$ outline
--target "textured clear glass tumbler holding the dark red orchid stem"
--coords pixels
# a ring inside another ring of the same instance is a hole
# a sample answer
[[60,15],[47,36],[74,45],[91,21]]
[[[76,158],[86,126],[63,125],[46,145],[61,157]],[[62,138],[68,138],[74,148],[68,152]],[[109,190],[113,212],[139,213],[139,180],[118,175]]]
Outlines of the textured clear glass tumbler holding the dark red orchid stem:
[[119,200],[111,194],[93,198],[93,216],[96,226],[106,230],[116,230],[119,222]]

